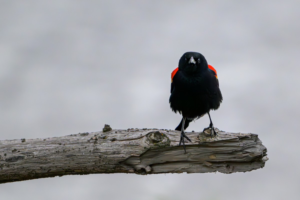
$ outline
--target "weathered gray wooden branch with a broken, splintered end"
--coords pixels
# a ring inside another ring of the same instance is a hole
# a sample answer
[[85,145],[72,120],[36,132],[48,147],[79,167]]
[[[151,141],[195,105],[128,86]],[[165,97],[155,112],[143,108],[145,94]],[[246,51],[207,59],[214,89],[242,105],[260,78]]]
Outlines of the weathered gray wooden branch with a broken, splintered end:
[[[217,129],[216,129],[217,130]],[[265,165],[267,149],[256,134],[217,130],[211,139],[157,129],[111,130],[45,139],[0,141],[0,183],[94,173],[246,172]]]

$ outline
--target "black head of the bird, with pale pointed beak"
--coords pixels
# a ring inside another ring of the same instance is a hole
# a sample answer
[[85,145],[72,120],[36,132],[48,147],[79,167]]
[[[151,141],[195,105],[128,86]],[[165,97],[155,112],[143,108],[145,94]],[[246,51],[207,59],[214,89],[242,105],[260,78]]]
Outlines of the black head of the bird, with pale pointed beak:
[[186,52],[184,53],[178,64],[178,69],[186,73],[197,73],[202,69],[208,68],[207,61],[201,53]]

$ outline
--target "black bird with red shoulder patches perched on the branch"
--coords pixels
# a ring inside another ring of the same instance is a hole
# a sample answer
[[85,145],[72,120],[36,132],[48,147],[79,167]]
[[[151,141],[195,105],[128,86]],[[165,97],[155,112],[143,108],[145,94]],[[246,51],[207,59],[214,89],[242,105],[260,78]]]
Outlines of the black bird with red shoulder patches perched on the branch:
[[184,130],[191,121],[199,119],[206,113],[209,116],[212,136],[217,135],[209,115],[210,110],[219,108],[223,97],[219,88],[216,70],[207,64],[204,56],[197,52],[186,52],[179,60],[178,67],[171,74],[171,96],[169,99],[171,109],[182,115],[182,120],[175,130],[181,130],[179,145],[185,135]]

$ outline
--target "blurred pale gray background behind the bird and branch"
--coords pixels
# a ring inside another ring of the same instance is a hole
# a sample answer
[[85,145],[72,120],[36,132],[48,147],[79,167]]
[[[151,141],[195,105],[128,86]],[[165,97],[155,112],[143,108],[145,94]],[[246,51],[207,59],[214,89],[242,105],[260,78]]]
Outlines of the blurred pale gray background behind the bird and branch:
[[[1,199],[298,199],[300,1],[1,1],[0,140],[174,129],[184,52],[218,72],[215,127],[256,133],[246,173],[93,174],[0,185]],[[208,116],[187,131],[201,131]]]

